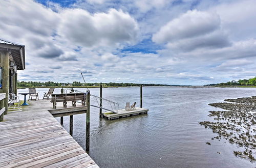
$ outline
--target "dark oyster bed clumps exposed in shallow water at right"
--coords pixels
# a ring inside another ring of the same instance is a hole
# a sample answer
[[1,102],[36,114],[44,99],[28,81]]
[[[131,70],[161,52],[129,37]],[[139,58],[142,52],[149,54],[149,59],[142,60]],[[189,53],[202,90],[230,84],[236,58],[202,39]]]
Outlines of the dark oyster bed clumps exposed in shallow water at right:
[[[209,111],[209,116],[217,122],[200,122],[207,129],[217,133],[211,140],[224,138],[242,151],[233,151],[234,156],[254,162],[256,149],[256,96],[226,99],[227,102],[211,103],[222,111]],[[226,143],[226,142],[225,142]],[[210,145],[210,143],[206,143]]]

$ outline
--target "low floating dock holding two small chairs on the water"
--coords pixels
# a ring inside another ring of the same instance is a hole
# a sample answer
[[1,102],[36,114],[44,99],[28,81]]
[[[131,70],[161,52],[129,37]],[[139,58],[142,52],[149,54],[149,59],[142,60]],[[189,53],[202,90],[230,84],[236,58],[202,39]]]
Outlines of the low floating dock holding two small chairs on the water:
[[103,113],[103,117],[108,120],[115,120],[115,119],[119,119],[119,118],[147,114],[147,111],[148,111],[148,109],[140,108],[140,107],[136,107],[136,109],[134,109],[134,110],[119,109],[118,113],[112,113],[111,111],[106,111]]

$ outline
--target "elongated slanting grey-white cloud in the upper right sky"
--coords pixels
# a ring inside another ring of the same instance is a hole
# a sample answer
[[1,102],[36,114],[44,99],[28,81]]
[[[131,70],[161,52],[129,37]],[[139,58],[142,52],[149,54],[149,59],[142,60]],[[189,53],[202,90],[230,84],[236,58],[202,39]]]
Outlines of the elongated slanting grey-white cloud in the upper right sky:
[[202,11],[187,11],[180,17],[169,21],[153,35],[156,43],[168,43],[175,40],[196,37],[213,32],[220,27],[217,14]]

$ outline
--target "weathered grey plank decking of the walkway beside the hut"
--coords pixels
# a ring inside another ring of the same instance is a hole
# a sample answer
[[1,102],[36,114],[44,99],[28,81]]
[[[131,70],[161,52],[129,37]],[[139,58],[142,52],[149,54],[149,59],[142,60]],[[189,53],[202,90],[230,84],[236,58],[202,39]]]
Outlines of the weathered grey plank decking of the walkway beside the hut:
[[28,103],[0,122],[0,167],[98,167],[48,112],[49,100]]

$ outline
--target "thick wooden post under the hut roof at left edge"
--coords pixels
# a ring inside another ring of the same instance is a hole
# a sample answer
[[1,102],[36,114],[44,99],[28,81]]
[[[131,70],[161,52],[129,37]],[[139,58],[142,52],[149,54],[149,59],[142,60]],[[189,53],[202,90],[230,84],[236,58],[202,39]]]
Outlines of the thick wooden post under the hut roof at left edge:
[[0,50],[0,59],[2,69],[2,89],[0,93],[6,93],[6,98],[4,100],[5,112],[4,115],[7,115],[8,111],[8,96],[9,96],[9,72],[10,72],[10,57],[8,50]]

